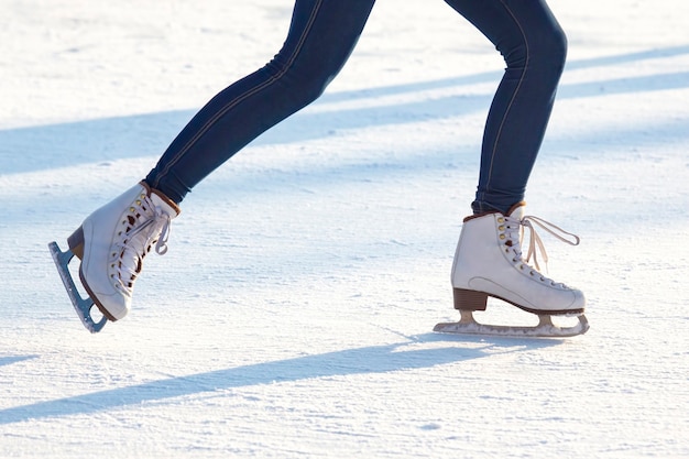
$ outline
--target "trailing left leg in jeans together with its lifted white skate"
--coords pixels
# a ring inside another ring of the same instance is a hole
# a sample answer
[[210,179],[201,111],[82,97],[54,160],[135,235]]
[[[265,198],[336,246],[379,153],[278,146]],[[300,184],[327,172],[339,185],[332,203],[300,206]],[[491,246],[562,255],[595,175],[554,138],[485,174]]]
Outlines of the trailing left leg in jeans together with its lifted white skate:
[[[154,248],[166,252],[177,204],[242,146],[324,91],[353,50],[374,1],[296,0],[287,40],[273,61],[210,100],[145,181],[96,210],[69,237],[72,253],[81,260],[81,283],[108,319],[129,313],[144,256]],[[67,272],[62,262],[61,269]],[[87,328],[102,327],[94,325],[87,302],[73,303]]]

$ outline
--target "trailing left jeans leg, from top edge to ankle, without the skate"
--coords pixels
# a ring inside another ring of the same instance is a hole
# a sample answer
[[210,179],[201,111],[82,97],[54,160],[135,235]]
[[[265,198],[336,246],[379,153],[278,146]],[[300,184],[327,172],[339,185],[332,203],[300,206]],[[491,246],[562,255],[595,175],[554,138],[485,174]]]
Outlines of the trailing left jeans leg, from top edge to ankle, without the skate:
[[244,145],[317,99],[351,54],[374,2],[296,0],[280,53],[211,99],[145,182],[179,204]]

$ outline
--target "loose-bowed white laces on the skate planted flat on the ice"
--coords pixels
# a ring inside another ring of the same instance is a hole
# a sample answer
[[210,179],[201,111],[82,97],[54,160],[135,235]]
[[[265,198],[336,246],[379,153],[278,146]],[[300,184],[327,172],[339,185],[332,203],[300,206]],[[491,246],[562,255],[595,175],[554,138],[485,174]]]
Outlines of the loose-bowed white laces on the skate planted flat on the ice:
[[[551,284],[555,284],[554,281],[540,274],[540,265],[538,263],[538,252],[540,252],[543,262],[546,264],[546,272],[547,272],[547,264],[548,264],[548,253],[546,252],[546,247],[543,243],[543,240],[540,239],[540,237],[538,236],[538,232],[536,232],[536,227],[549,232],[550,234],[553,234],[560,241],[566,242],[570,245],[578,245],[580,242],[579,237],[571,232],[565,231],[562,228],[556,225],[553,225],[549,221],[546,221],[542,218],[534,217],[534,216],[524,216],[521,220],[514,217],[505,217],[505,223],[506,223],[505,225],[506,229],[511,230],[511,231],[505,231],[505,232],[507,233],[507,238],[508,238],[507,239],[508,243],[506,244],[510,248],[512,248],[515,254],[515,258],[513,259],[513,261],[515,263],[523,262],[524,265],[529,266],[528,262],[532,260],[532,256],[533,256],[534,267],[536,270],[535,271],[532,270],[529,274],[538,275],[540,277],[540,281],[550,282]],[[514,232],[516,232],[515,230],[517,228],[518,228],[518,236],[515,238]],[[526,258],[522,259],[521,241],[523,240],[525,228],[529,230],[528,250],[526,252]]]

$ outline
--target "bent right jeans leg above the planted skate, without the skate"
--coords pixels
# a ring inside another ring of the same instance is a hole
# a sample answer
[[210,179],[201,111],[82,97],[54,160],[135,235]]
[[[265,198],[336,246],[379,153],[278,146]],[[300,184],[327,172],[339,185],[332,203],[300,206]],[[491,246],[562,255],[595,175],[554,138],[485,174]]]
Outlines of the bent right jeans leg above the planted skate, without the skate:
[[491,106],[474,214],[504,214],[524,199],[565,66],[567,39],[544,0],[446,0],[503,55]]

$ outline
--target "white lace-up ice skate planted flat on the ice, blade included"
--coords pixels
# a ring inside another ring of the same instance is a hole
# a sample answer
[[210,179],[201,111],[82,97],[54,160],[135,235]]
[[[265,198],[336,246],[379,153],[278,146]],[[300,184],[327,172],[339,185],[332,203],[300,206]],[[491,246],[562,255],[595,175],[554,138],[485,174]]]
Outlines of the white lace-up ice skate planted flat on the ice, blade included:
[[[524,216],[524,203],[508,215],[501,212],[464,219],[452,265],[455,308],[458,323],[438,324],[435,331],[517,337],[568,337],[586,332],[589,325],[583,315],[586,299],[581,291],[555,282],[539,272],[536,252],[547,262],[543,241],[535,226],[556,238],[577,245],[579,238],[537,217]],[[524,228],[531,230],[526,258],[522,254]],[[559,234],[558,234],[559,232]],[[573,241],[564,236],[569,236]],[[528,262],[534,260],[534,266]],[[473,312],[485,310],[488,297],[507,302],[538,316],[534,327],[496,326],[478,323]],[[577,316],[576,326],[560,327],[554,316]]]

